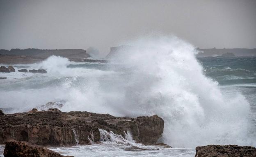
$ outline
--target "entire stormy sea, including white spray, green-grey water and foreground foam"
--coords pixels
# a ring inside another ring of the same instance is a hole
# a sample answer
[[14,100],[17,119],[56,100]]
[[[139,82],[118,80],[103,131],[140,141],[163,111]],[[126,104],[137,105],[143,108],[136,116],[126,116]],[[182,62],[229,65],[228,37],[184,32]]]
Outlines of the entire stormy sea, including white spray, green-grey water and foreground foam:
[[195,57],[194,46],[177,38],[138,40],[110,63],[75,63],[51,56],[18,69],[46,74],[0,73],[0,108],[29,111],[62,102],[61,111],[114,116],[157,114],[165,120],[159,142],[174,148],[127,151],[127,145],[51,148],[63,155],[192,157],[196,146],[256,146],[256,57]]

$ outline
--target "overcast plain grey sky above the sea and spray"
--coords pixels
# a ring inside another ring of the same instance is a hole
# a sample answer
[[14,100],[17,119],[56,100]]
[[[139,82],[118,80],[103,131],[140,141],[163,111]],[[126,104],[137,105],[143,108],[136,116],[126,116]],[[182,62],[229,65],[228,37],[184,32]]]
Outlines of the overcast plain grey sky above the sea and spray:
[[200,48],[256,48],[256,0],[0,0],[0,49],[108,53],[155,33]]

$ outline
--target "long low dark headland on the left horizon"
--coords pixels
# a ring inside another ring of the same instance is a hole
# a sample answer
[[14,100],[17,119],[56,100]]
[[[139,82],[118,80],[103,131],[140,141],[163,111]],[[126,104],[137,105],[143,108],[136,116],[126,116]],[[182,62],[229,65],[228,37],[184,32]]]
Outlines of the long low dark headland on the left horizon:
[[83,49],[11,49],[11,50],[0,50],[2,55],[25,55],[31,57],[46,58],[51,55],[59,55],[67,58],[88,58],[90,55]]

